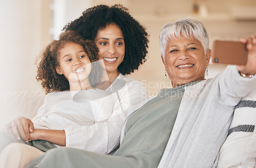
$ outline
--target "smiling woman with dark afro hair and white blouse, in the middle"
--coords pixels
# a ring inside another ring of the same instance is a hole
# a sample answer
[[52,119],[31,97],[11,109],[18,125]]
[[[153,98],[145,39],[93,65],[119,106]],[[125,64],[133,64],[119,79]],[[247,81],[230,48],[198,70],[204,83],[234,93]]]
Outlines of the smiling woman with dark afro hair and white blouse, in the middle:
[[[147,33],[121,5],[99,5],[87,9],[63,30],[75,31],[82,38],[94,41],[99,50],[98,58],[104,62],[102,67],[106,70],[108,80],[101,79],[102,82],[92,86],[107,91],[114,101],[109,119],[102,124],[94,124],[90,136],[84,133],[84,127],[66,129],[66,147],[88,147],[84,142],[93,137],[92,139],[97,139],[99,147],[106,149],[100,153],[110,153],[119,144],[121,126],[126,116],[148,97],[142,83],[125,76],[145,62]],[[16,137],[22,137],[25,141],[31,139],[29,130],[33,128],[33,123],[29,119],[20,118],[12,123],[13,126],[10,127]],[[22,157],[26,159],[26,155]]]

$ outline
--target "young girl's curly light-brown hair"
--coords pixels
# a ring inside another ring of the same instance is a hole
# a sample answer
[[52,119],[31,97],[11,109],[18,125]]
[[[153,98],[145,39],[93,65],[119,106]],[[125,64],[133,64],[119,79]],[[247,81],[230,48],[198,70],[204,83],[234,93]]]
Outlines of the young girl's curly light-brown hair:
[[[80,44],[91,62],[98,60],[98,48],[91,40],[84,40],[74,31],[65,31],[59,35],[59,40],[53,40],[42,53],[40,62],[37,65],[37,81],[41,81],[42,88],[46,94],[52,91],[69,90],[69,81],[64,75],[57,74],[56,66],[59,65],[57,58],[59,50],[68,42]],[[89,75],[91,84],[99,83],[102,78],[102,67],[95,62]]]

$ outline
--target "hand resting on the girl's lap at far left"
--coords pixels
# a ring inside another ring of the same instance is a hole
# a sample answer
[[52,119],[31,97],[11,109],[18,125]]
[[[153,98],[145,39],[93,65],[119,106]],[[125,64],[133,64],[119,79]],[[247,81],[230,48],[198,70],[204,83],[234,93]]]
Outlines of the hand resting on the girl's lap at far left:
[[26,142],[31,140],[34,124],[29,118],[17,117],[5,126],[5,131],[12,131],[17,140],[20,137]]

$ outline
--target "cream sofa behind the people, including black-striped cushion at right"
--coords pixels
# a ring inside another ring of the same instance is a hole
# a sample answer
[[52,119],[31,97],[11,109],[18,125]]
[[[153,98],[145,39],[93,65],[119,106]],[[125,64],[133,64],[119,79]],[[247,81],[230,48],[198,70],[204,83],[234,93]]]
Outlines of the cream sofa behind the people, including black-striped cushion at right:
[[[17,116],[32,119],[38,108],[44,103],[45,96],[46,94],[42,91],[3,92],[0,94],[0,128],[4,128]],[[234,110],[229,135],[219,153],[218,168],[256,167],[255,125],[256,88],[244,97]]]

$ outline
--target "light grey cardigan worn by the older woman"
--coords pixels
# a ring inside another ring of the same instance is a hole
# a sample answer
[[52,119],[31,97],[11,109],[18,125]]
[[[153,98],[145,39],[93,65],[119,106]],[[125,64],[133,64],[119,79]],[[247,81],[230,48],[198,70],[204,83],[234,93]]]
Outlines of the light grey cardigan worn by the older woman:
[[255,87],[256,77],[240,76],[234,65],[213,79],[185,87],[158,167],[215,167],[234,107]]

